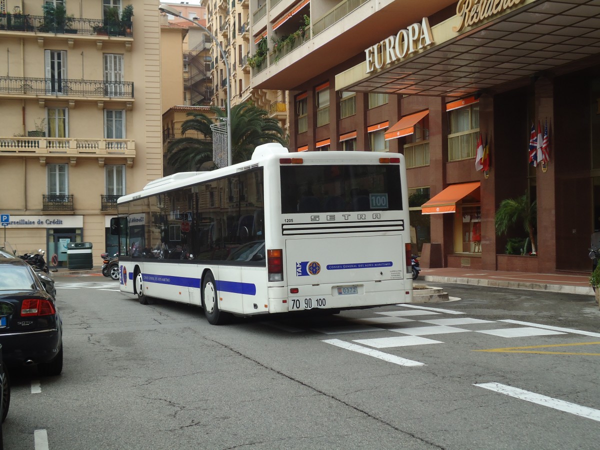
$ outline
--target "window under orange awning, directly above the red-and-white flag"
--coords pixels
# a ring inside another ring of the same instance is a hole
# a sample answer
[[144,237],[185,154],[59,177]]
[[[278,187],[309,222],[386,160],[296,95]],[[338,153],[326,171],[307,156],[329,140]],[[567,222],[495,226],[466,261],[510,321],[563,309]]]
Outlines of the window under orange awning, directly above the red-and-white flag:
[[479,136],[479,103],[448,112],[448,161],[475,158]]

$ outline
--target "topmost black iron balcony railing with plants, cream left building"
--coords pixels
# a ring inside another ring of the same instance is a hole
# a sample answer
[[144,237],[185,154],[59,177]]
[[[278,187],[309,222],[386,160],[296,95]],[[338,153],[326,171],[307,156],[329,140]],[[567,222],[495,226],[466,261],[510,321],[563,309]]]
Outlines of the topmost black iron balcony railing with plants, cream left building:
[[0,13],[0,31],[24,31],[52,34],[83,34],[133,37],[133,24],[124,20],[73,18],[67,27],[56,26],[53,17]]

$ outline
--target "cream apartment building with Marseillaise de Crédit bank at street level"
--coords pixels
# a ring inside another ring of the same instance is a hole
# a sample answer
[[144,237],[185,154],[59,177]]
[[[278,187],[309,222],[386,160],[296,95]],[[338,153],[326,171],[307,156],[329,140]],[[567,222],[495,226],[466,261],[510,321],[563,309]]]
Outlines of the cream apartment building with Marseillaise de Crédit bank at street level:
[[154,1],[0,0],[0,212],[21,253],[116,248],[116,199],[163,174],[159,49]]

